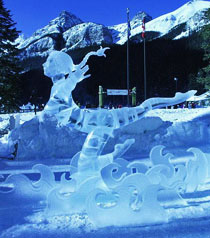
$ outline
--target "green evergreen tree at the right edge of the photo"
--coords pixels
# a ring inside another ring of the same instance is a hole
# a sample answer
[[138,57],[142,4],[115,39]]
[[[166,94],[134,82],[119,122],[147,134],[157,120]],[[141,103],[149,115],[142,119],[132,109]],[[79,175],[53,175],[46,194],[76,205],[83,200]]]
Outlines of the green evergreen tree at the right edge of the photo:
[[[210,10],[207,11],[206,18],[210,21]],[[206,62],[206,67],[200,70],[198,82],[203,84],[205,89],[210,90],[210,24],[203,28],[201,37],[203,40],[202,48],[205,51],[204,61]]]

